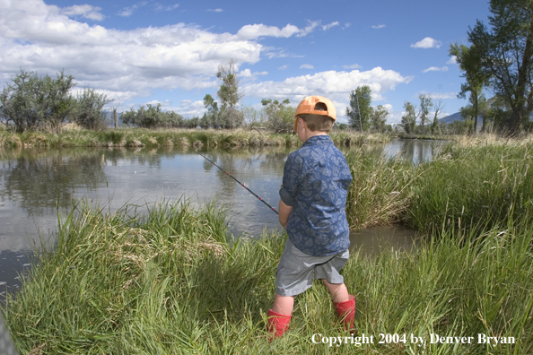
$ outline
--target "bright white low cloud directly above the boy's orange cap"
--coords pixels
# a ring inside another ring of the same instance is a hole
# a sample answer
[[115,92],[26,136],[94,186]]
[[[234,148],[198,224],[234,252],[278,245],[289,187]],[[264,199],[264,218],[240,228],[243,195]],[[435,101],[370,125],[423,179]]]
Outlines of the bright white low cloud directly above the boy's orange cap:
[[[402,76],[393,70],[384,70],[375,67],[366,72],[354,70],[352,72],[327,71],[317,74],[295,76],[283,82],[258,82],[250,83],[244,87],[247,96],[256,98],[272,97],[300,102],[309,95],[321,95],[330,100],[344,102],[350,91],[357,86],[369,85],[372,91],[372,100],[383,100],[383,93],[394,90],[400,83],[411,82],[410,76]],[[274,93],[274,94],[273,94]],[[337,112],[345,108],[337,108]]]

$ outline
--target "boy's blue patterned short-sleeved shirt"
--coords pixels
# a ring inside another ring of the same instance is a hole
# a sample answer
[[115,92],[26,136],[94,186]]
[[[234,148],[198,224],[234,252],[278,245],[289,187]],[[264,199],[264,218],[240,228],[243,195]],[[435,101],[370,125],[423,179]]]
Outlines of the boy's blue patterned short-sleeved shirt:
[[350,246],[346,195],[352,174],[328,135],[310,137],[289,154],[279,195],[293,206],[286,230],[293,245],[312,255],[334,255]]

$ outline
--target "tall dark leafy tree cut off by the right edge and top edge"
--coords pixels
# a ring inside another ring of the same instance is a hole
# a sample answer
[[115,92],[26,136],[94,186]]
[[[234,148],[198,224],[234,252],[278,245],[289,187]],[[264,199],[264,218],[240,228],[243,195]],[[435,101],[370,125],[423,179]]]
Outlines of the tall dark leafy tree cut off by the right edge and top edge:
[[533,1],[491,0],[489,10],[491,29],[477,20],[468,40],[494,92],[511,108],[506,126],[517,134],[533,110]]

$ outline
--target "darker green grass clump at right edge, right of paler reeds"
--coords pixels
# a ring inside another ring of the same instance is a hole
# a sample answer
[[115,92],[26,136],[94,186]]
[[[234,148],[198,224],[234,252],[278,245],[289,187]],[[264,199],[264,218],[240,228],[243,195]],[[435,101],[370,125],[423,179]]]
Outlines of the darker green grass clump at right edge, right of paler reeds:
[[533,153],[529,144],[448,146],[417,167],[404,221],[416,229],[495,226],[533,212]]

